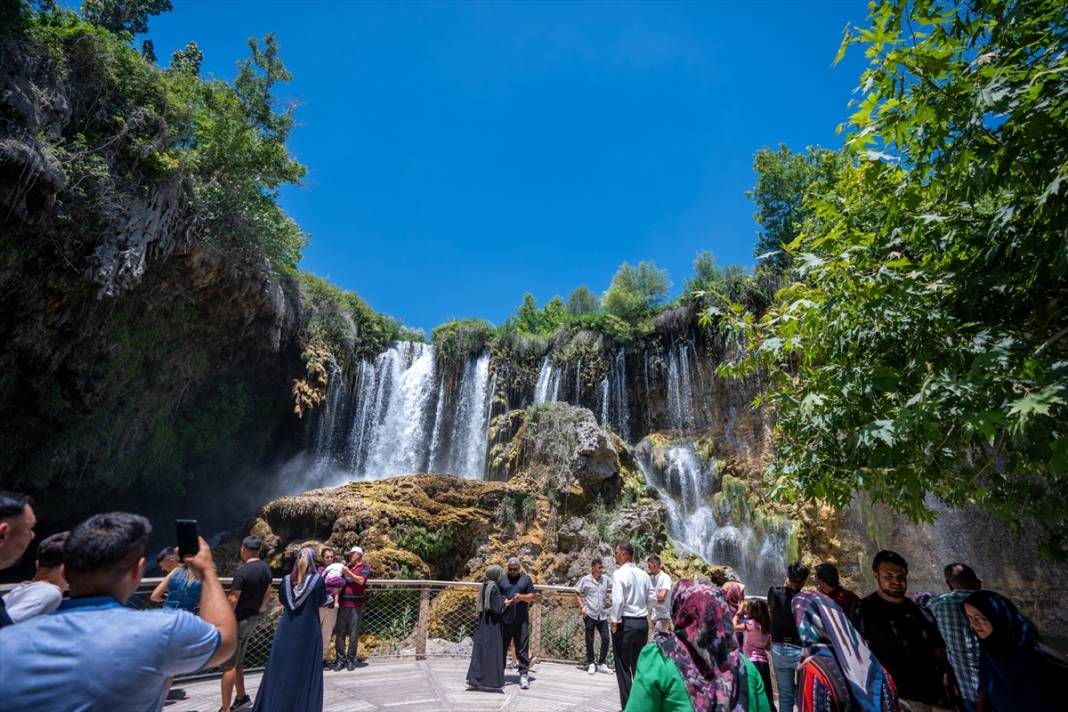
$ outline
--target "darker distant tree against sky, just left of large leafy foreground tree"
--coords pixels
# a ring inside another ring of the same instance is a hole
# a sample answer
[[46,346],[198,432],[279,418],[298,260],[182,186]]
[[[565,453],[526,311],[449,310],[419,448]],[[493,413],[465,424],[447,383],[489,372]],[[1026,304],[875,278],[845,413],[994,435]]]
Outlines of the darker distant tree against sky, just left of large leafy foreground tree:
[[761,148],[753,158],[756,185],[745,195],[756,205],[753,218],[760,225],[756,256],[768,255],[765,264],[778,273],[788,267],[783,246],[791,242],[811,215],[806,195],[826,192],[837,178],[845,157],[836,151],[810,146],[803,154],[786,144],[778,151]]

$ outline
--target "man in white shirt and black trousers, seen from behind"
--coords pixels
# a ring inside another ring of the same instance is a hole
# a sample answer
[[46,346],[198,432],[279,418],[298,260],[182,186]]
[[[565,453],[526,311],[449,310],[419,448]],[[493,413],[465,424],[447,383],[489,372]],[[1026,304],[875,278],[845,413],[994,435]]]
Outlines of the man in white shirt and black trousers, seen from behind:
[[630,685],[638,667],[638,655],[649,637],[649,608],[653,582],[647,573],[634,566],[634,547],[624,541],[615,548],[619,568],[612,574],[612,652],[615,655],[615,679],[619,683],[621,708],[626,709]]

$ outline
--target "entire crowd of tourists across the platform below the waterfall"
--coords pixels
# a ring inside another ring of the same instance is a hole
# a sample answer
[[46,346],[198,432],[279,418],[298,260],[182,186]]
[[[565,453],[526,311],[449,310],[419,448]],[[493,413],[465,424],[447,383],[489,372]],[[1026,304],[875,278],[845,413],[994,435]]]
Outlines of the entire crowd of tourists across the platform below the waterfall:
[[[21,558],[35,522],[28,497],[0,491],[0,570]],[[32,580],[0,599],[3,709],[160,710],[175,676],[218,667],[221,712],[319,712],[324,670],[365,664],[357,652],[371,570],[359,547],[343,560],[330,548],[297,553],[278,586],[282,613],[253,702],[244,664],[272,594],[263,542],[242,540],[229,591],[203,539],[184,558],[163,549],[156,564],[164,575],[150,597],[162,607],[137,611],[127,602],[151,532],[143,517],[110,512],[38,543]],[[740,583],[673,584],[659,557],[644,569],[633,559],[621,542],[611,575],[594,559],[575,587],[585,670],[612,673],[611,648],[625,712],[1059,709],[1054,680],[1068,667],[965,564],[945,567],[947,592],[910,598],[908,563],[880,551],[876,590],[861,598],[830,563],[815,567],[806,588],[808,568],[795,561],[782,586],[747,598]],[[486,570],[469,689],[503,690],[513,647],[519,687],[530,689],[538,597],[517,557]]]

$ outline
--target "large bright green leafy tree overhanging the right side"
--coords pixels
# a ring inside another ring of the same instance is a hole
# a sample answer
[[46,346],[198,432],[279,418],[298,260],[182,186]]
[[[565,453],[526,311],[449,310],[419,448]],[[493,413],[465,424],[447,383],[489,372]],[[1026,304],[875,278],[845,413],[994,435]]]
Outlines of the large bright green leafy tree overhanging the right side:
[[[798,282],[735,369],[770,373],[772,473],[915,518],[929,494],[1035,522],[1068,556],[1068,14],[1056,0],[873,5],[843,169]],[[841,53],[839,53],[841,56]]]

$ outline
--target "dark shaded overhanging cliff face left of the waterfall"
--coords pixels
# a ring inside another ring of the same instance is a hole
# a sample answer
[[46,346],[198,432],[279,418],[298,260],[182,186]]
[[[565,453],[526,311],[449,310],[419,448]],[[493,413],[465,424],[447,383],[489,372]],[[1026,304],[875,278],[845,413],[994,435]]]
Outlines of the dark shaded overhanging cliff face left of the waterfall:
[[52,528],[296,446],[301,316],[263,259],[198,238],[180,178],[130,168],[162,120],[85,142],[101,69],[42,51],[0,36],[0,481]]

